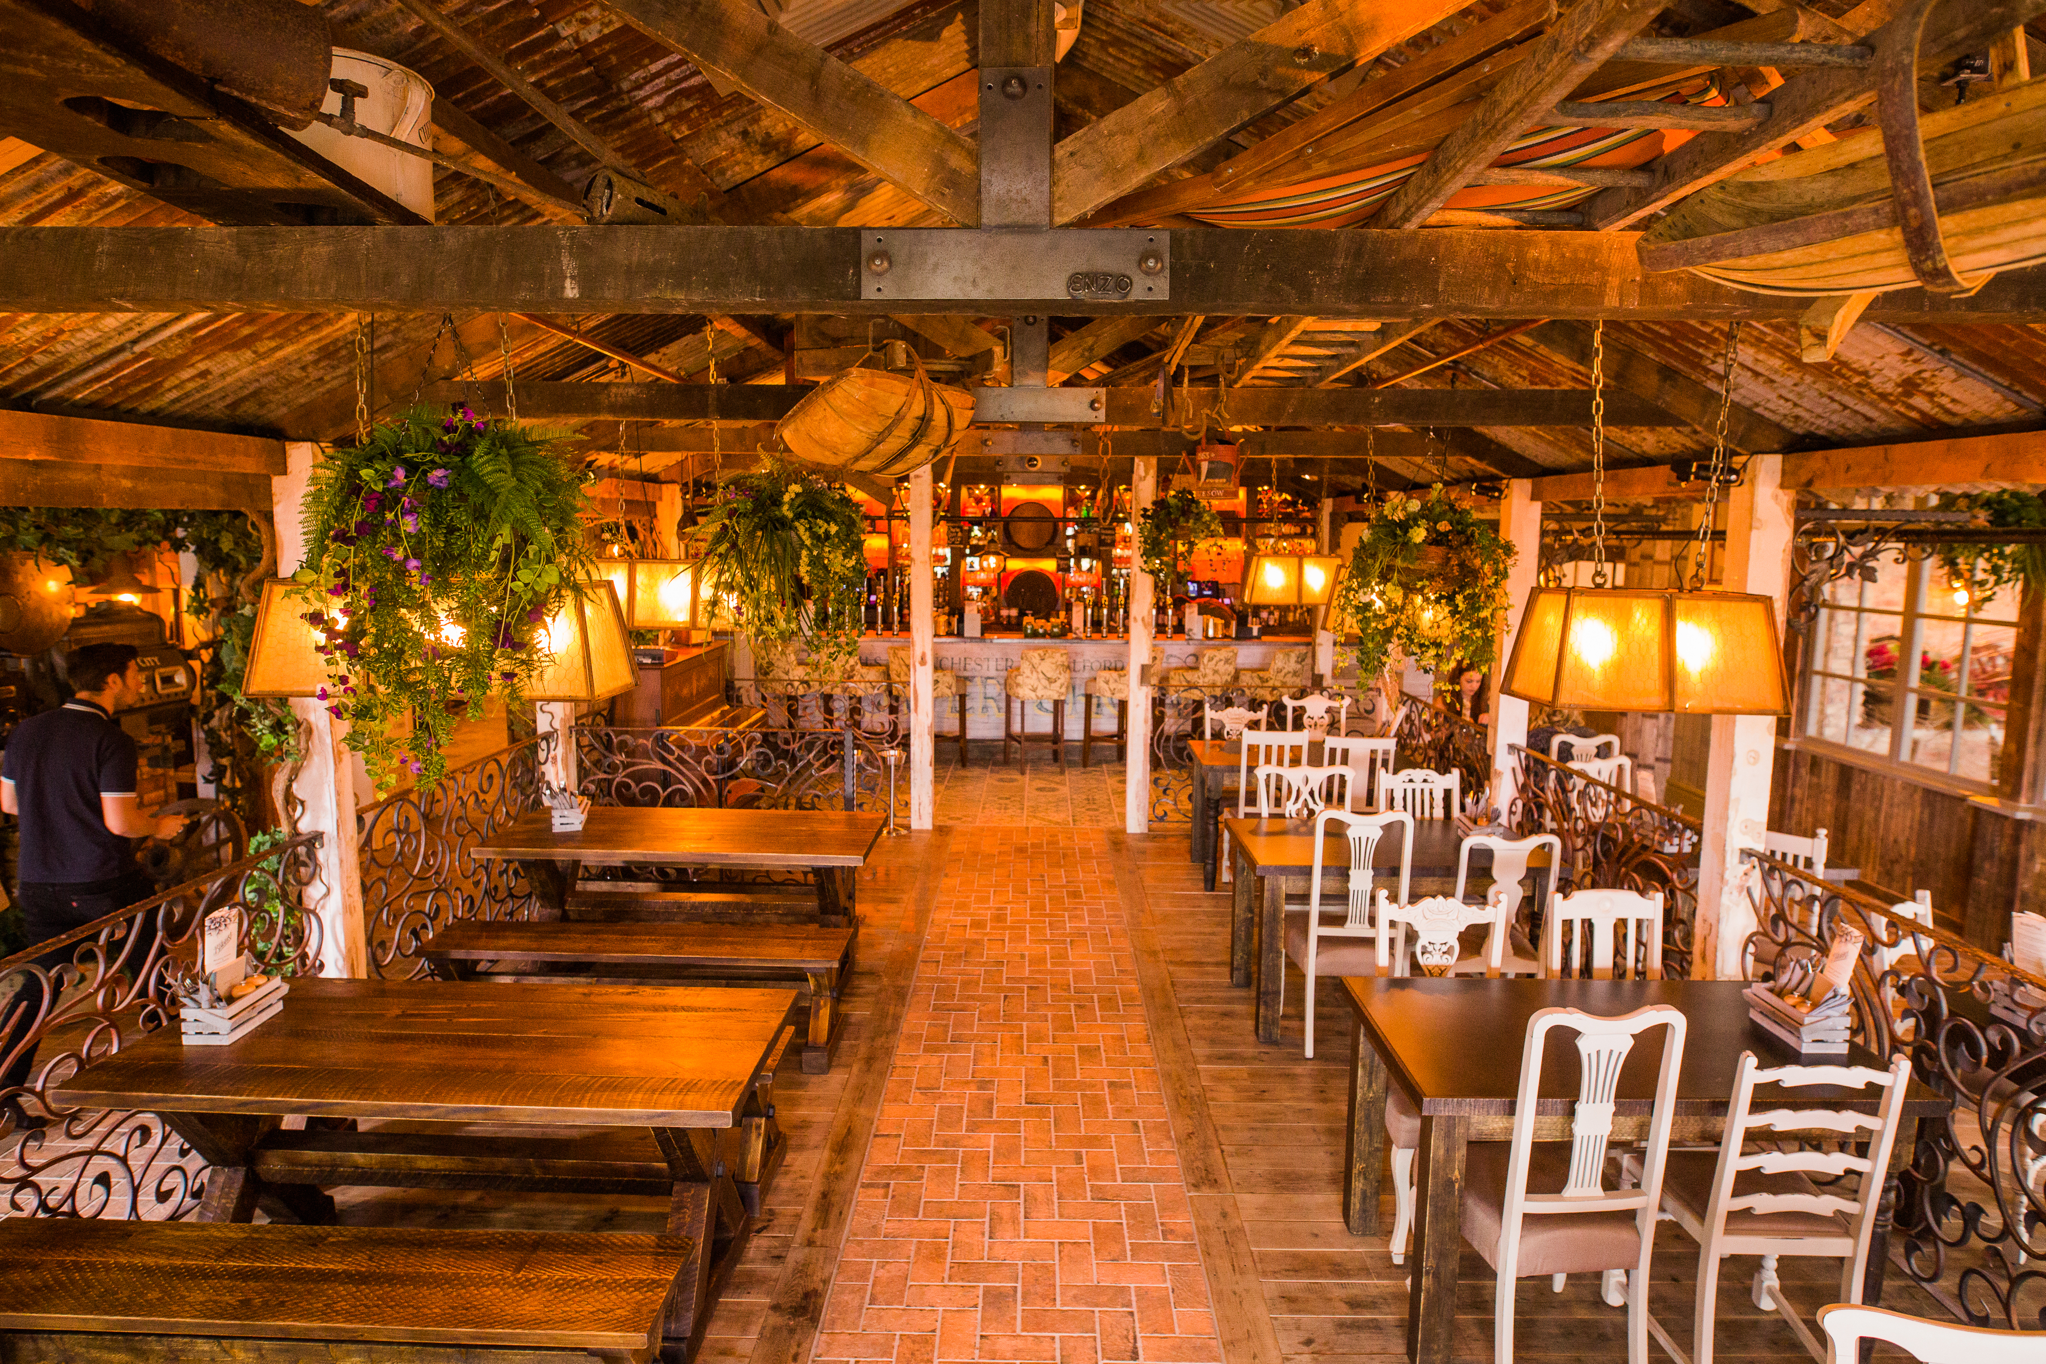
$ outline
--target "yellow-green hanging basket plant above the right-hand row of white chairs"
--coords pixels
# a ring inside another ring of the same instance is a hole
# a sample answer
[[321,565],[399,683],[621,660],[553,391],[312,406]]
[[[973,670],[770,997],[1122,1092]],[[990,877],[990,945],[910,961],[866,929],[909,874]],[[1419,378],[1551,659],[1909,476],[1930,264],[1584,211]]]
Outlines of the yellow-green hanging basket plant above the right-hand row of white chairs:
[[1442,485],[1426,499],[1387,493],[1336,595],[1359,634],[1356,675],[1377,677],[1393,650],[1430,673],[1489,667],[1512,562],[1514,546]]

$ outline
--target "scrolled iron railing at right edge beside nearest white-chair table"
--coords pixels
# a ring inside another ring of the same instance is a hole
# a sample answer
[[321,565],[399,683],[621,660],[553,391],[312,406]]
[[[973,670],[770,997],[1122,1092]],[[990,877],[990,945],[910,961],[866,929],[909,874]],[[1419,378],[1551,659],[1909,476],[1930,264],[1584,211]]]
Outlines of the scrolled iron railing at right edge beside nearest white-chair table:
[[1962,1321],[2046,1329],[2046,977],[1921,922],[1917,904],[1884,904],[1758,851],[1741,859],[1755,910],[1745,973],[1825,957],[1854,926],[1864,939],[1854,1039],[1884,1059],[1907,1051],[1919,1084],[1952,1100],[1942,1119],[1919,1121],[1895,1204],[1895,1264]]

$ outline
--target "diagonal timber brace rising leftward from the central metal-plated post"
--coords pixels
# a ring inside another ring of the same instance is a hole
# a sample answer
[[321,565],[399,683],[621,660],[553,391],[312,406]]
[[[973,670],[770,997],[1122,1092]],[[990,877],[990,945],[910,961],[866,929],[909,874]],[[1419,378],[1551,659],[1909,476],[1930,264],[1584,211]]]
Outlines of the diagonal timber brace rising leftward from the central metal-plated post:
[[[411,0],[417,2],[417,0]],[[751,0],[608,0],[647,37],[751,98],[782,110],[890,184],[945,217],[980,221],[974,143],[814,43]]]

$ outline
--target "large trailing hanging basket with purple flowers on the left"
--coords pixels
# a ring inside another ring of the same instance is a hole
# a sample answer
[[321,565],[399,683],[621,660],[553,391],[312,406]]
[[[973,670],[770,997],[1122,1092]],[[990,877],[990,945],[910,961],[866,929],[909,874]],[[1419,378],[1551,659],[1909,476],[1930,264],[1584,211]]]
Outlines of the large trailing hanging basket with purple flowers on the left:
[[491,691],[520,701],[548,618],[593,577],[585,481],[554,438],[466,407],[413,409],[313,466],[299,581],[325,636],[319,699],[376,785],[438,781],[458,720]]

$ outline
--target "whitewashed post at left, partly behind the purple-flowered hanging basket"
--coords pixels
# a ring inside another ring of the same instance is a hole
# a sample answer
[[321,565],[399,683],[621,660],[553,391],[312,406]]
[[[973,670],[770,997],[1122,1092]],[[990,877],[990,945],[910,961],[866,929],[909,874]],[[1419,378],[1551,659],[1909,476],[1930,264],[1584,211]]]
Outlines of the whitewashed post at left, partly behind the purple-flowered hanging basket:
[[[319,460],[317,444],[291,442],[284,446],[284,472],[270,479],[278,577],[291,577],[305,562],[299,499],[305,497],[305,481],[315,460]],[[368,975],[356,808],[374,800],[374,791],[356,789],[354,753],[344,746],[346,720],[336,720],[323,701],[309,697],[293,699],[291,710],[313,730],[305,767],[293,783],[293,791],[305,802],[299,832],[325,834],[317,853],[319,879],[307,888],[307,908],[319,918],[319,973]]]

